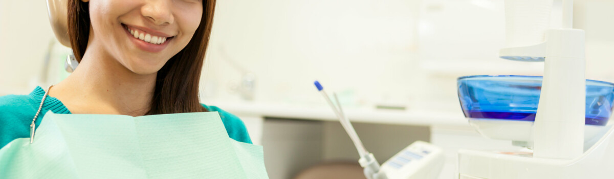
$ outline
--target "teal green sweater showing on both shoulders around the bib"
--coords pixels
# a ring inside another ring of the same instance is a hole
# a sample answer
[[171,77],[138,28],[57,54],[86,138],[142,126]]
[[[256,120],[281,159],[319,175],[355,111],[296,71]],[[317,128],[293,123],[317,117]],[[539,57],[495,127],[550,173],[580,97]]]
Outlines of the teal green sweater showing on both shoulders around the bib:
[[[17,138],[30,137],[29,126],[39,105],[41,105],[42,96],[44,95],[45,91],[37,86],[28,95],[0,96],[0,148]],[[228,137],[239,142],[252,143],[252,140],[249,139],[249,134],[247,134],[245,124],[237,116],[215,106],[203,104],[203,107],[210,112],[220,113],[220,118],[226,128],[226,132],[228,132]],[[49,110],[60,114],[71,113],[60,100],[47,96],[45,103],[42,105],[41,113],[36,118],[36,127],[41,124],[43,116]]]

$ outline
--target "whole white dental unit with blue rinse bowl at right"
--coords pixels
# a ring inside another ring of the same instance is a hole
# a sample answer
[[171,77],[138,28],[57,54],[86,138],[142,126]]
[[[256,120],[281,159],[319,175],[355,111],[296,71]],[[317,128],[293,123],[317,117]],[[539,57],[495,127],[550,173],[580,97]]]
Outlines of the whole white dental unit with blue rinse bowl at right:
[[614,84],[585,79],[585,32],[548,29],[552,0],[506,0],[507,47],[500,58],[545,63],[542,77],[470,76],[458,80],[461,106],[484,137],[519,151],[461,150],[461,179],[614,178]]

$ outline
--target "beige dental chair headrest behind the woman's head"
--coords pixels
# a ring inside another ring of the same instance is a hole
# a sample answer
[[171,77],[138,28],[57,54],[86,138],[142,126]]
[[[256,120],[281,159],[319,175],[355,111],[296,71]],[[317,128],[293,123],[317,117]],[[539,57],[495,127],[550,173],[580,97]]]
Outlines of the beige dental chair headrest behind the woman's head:
[[49,12],[49,22],[55,34],[55,38],[60,44],[71,47],[71,40],[68,37],[68,0],[47,0],[47,11]]

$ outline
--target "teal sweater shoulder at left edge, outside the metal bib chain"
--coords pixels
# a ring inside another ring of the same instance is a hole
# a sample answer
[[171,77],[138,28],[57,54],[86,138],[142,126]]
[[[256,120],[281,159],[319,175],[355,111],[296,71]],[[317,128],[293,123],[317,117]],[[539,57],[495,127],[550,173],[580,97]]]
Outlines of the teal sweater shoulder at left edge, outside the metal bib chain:
[[32,96],[0,96],[0,148],[10,141],[26,137],[29,121],[34,117],[37,106]]

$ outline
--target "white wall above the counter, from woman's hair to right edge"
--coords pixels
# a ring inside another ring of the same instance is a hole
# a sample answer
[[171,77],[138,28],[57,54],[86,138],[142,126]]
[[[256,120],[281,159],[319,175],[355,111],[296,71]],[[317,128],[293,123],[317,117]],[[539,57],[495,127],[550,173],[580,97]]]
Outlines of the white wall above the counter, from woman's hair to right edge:
[[[613,2],[575,1],[591,79],[614,80]],[[242,69],[257,77],[256,101],[320,105],[317,79],[346,106],[458,110],[457,77],[542,75],[543,63],[498,58],[504,24],[502,0],[220,1],[203,78],[217,90],[204,96],[239,99]]]

